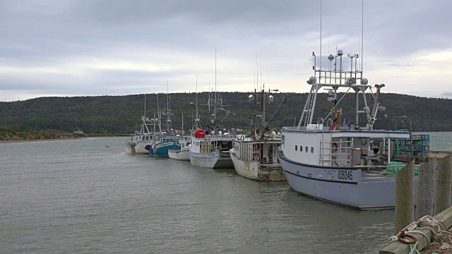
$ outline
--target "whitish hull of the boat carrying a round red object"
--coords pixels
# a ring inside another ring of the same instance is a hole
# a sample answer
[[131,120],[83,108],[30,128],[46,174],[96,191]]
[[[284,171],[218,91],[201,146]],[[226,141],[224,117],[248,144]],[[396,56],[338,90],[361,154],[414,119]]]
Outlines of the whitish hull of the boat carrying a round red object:
[[190,163],[197,167],[206,167],[209,169],[234,168],[231,157],[221,156],[220,152],[190,152]]

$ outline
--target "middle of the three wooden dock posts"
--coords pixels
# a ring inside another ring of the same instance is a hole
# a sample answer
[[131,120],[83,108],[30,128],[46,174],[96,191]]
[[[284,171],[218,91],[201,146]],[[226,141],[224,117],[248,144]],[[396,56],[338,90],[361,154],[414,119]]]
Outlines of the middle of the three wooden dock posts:
[[419,168],[417,176],[416,219],[425,215],[433,216],[435,200],[436,158],[429,159]]

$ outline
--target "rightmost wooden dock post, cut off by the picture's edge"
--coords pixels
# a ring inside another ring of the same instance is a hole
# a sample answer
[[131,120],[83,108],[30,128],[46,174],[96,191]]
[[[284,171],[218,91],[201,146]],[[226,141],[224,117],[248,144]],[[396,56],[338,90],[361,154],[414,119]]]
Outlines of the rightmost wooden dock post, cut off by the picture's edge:
[[452,155],[438,159],[436,171],[436,191],[434,214],[439,214],[451,206]]

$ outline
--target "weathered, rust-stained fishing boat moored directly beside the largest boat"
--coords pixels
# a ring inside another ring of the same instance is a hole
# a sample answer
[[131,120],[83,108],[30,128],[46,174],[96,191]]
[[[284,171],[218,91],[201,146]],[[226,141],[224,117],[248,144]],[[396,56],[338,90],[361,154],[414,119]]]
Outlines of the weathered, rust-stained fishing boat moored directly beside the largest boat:
[[[278,90],[274,90],[277,92]],[[270,90],[260,93],[255,91],[256,96],[249,95],[249,100],[261,104],[261,115],[256,119],[251,119],[252,135],[237,135],[233,140],[233,147],[230,155],[234,164],[234,169],[240,176],[258,181],[285,181],[283,168],[278,162],[278,147],[282,143],[281,133],[266,134],[268,126],[275,114],[268,123],[266,122],[266,104],[273,102],[273,95]],[[260,98],[258,98],[260,96]],[[285,99],[280,106],[285,102]],[[254,126],[254,122],[256,126]]]

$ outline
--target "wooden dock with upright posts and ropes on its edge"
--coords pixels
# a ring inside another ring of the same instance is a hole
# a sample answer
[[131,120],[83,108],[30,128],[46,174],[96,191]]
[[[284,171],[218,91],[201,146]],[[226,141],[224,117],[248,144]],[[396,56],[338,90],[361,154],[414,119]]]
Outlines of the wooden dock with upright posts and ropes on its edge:
[[[394,223],[396,236],[391,237],[391,243],[380,250],[380,254],[408,254],[413,253],[412,248],[424,250],[435,240],[436,233],[445,234],[444,231],[440,233],[441,230],[450,229],[452,226],[451,153],[432,152],[430,154],[428,162],[420,167],[417,190],[414,190],[414,159],[412,158],[410,164],[403,167],[396,175],[396,222]],[[417,191],[417,220],[413,222],[415,191]],[[438,226],[440,224],[442,228]],[[451,239],[449,238],[448,241]]]

